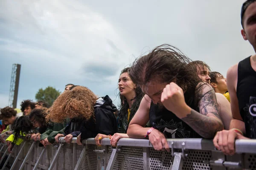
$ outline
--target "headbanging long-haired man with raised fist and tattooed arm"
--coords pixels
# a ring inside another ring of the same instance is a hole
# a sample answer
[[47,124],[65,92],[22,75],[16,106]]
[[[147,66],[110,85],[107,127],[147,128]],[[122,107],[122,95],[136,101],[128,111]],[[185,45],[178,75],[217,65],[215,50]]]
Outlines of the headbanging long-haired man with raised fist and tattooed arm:
[[[167,138],[213,138],[223,130],[215,92],[187,64],[191,60],[171,45],[160,45],[138,58],[130,77],[144,98],[127,134],[148,138],[154,149],[167,150]],[[145,127],[150,121],[151,128]]]

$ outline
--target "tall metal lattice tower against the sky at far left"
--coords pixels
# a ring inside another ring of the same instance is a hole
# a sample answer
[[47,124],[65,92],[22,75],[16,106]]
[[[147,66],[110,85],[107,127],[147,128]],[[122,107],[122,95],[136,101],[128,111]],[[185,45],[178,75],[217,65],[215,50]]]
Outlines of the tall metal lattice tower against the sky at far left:
[[9,107],[16,108],[17,98],[18,98],[18,89],[20,81],[20,64],[12,65],[12,77],[11,77],[11,86],[9,94]]

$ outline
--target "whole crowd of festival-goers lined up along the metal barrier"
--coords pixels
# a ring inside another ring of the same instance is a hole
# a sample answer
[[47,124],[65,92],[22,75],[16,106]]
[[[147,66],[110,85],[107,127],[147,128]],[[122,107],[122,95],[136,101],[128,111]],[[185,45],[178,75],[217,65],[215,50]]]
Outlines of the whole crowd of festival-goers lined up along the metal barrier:
[[[256,51],[256,0],[241,10],[241,34]],[[218,150],[235,153],[235,139],[256,139],[256,55],[231,66],[227,79],[203,61],[192,61],[178,48],[163,44],[121,71],[120,103],[106,95],[68,84],[52,106],[24,100],[0,110],[1,142],[9,152],[23,139],[41,146],[109,138],[149,139],[154,149],[170,151],[167,138],[213,139]],[[6,140],[4,137],[10,135]]]

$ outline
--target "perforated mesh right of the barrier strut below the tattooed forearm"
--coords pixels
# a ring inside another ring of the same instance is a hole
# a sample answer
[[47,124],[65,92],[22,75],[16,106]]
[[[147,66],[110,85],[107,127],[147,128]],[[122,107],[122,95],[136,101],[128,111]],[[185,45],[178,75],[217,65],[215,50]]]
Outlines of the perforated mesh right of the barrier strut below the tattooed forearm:
[[210,170],[209,162],[212,157],[211,151],[189,150],[189,156],[183,162],[183,170]]

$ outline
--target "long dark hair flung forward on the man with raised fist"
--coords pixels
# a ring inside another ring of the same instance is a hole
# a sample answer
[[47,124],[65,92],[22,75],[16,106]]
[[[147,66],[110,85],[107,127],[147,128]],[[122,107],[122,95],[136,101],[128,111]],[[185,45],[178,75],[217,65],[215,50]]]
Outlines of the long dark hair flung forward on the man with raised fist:
[[163,44],[154,48],[149,54],[137,58],[130,68],[129,75],[132,81],[140,86],[151,81],[175,82],[185,92],[187,105],[197,107],[199,102],[197,85],[201,81],[195,71],[188,66],[189,62],[191,59],[178,48]]

